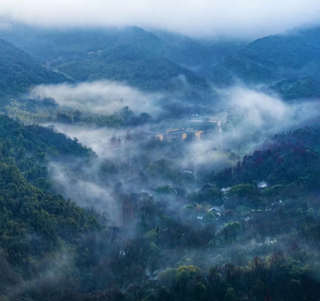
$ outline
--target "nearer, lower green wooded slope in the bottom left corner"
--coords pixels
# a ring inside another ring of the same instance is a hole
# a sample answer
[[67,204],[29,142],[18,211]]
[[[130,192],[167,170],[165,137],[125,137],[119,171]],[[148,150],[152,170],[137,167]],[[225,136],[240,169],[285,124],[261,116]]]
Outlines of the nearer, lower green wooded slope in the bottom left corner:
[[0,298],[58,300],[60,294],[60,300],[67,300],[64,291],[73,286],[75,272],[71,265],[98,257],[98,249],[83,247],[99,237],[103,216],[61,195],[44,194],[13,162],[6,162],[0,163]]

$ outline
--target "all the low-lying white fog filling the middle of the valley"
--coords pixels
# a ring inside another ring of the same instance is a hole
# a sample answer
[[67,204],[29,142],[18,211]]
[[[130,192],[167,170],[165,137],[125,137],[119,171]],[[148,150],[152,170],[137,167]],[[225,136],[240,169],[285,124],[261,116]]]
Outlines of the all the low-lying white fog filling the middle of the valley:
[[[131,95],[131,90],[121,86],[121,89],[128,93],[114,96],[119,90],[111,95],[108,93],[109,89],[112,90],[111,87],[108,86],[106,90],[102,88],[105,83],[85,83],[72,87],[40,86],[35,88],[33,93],[41,93],[42,97],[52,96],[59,104],[67,103],[75,108],[81,104],[83,108],[89,107],[92,111],[103,108],[103,112],[112,112],[124,105],[130,105],[135,113],[136,110],[152,112],[158,108],[159,98],[155,97],[153,100],[154,95],[139,91]],[[87,92],[83,93],[83,89]],[[59,132],[66,133],[71,138],[76,137],[98,155],[89,164],[78,162],[77,172],[70,172],[64,164],[52,163],[50,174],[57,192],[76,199],[83,206],[110,210],[110,206],[114,204],[113,189],[117,183],[121,182],[128,193],[144,190],[152,194],[156,187],[161,185],[175,187],[179,183],[178,178],[181,177],[180,170],[183,166],[191,168],[193,177],[197,179],[193,184],[183,184],[183,189],[190,192],[205,184],[201,182],[201,177],[206,173],[232,166],[237,160],[241,160],[245,153],[252,153],[255,148],[259,148],[268,137],[290,128],[304,126],[306,118],[312,122],[312,118],[317,117],[319,112],[319,101],[286,103],[276,96],[243,87],[220,91],[220,94],[226,100],[221,111],[228,111],[228,122],[222,124],[222,133],[213,130],[201,139],[184,143],[152,142],[152,138],[146,135],[149,129],[161,127],[165,130],[165,120],[161,124],[116,129],[53,123]],[[97,95],[99,97],[96,97]],[[122,98],[123,102],[118,103],[119,98]],[[211,109],[215,106],[214,103],[207,105]],[[180,127],[180,121],[176,120],[175,127]],[[129,143],[126,141],[128,130],[131,135]],[[117,139],[121,139],[119,148],[110,146],[110,139],[114,134]],[[99,173],[101,166],[105,165],[108,166],[106,169],[111,171],[107,171],[104,180],[101,180]],[[115,166],[116,172],[112,171],[112,166]],[[160,169],[164,171],[160,172]],[[170,177],[166,177],[166,173],[170,174]]]

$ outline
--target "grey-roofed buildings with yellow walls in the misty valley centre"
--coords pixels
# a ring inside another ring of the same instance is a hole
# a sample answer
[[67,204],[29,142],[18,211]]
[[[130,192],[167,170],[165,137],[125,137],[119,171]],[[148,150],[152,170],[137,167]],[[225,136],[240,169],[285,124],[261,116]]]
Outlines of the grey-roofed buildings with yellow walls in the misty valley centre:
[[148,131],[148,135],[154,136],[156,139],[160,141],[173,141],[173,140],[185,140],[185,139],[200,139],[204,131],[201,130],[194,130],[194,129],[185,129],[185,128],[178,128],[178,129],[166,129],[166,130],[153,130]]

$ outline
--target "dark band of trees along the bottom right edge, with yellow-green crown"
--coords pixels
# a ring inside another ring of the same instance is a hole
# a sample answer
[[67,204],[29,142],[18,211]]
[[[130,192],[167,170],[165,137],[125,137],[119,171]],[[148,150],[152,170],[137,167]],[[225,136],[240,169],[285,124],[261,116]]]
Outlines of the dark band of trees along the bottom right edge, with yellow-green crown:
[[274,251],[270,257],[254,257],[242,267],[232,263],[201,270],[195,266],[167,269],[160,276],[157,297],[144,300],[319,300],[315,271]]

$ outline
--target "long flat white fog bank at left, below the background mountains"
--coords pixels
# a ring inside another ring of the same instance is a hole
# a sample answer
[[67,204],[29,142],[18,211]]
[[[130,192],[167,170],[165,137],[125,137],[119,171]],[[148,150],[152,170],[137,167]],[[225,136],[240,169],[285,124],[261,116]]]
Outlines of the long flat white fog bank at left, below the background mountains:
[[159,113],[156,105],[161,94],[143,93],[138,89],[108,80],[79,84],[40,85],[30,91],[31,97],[53,97],[61,106],[97,114],[112,114],[124,106],[135,113]]

